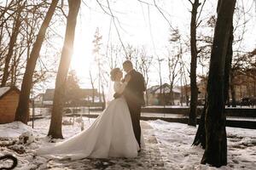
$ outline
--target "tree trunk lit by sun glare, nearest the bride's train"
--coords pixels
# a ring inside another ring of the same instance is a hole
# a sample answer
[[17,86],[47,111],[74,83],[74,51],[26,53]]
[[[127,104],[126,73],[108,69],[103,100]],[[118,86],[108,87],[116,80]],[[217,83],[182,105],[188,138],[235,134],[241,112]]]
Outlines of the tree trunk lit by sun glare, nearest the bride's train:
[[70,60],[73,54],[73,41],[75,36],[75,28],[77,16],[79,14],[81,0],[68,0],[67,27],[64,45],[61,52],[61,61],[55,82],[55,94],[52,108],[52,114],[49,125],[48,136],[53,139],[63,139],[61,132],[62,109],[64,105],[65,85],[67,81],[67,73]]

